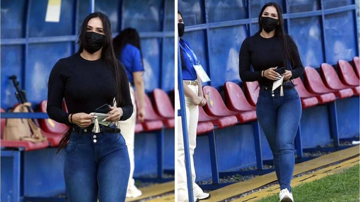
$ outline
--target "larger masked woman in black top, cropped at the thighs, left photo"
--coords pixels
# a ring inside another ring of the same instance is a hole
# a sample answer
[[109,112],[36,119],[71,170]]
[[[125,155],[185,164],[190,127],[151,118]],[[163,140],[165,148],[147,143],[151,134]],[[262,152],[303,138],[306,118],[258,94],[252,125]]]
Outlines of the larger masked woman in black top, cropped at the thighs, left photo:
[[[49,117],[70,126],[58,149],[66,147],[67,196],[70,202],[96,202],[98,197],[100,201],[125,201],[129,155],[113,123],[128,119],[133,107],[125,69],[115,58],[109,18],[100,12],[88,15],[78,43],[76,54],[54,65],[48,86]],[[69,113],[62,110],[63,98]],[[113,105],[114,98],[117,105]],[[91,122],[96,117],[89,113],[104,104],[110,106],[110,116],[98,122],[112,122],[108,127],[100,125],[100,133],[94,133],[96,124]]]

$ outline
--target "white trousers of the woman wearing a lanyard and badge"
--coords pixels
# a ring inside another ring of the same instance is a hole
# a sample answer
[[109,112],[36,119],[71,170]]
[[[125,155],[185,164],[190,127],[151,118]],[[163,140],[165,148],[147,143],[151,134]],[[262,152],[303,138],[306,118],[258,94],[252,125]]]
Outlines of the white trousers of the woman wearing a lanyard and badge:
[[[188,85],[188,87],[198,95],[198,86]],[[179,100],[178,100],[179,102]],[[180,106],[180,105],[178,105]],[[185,96],[186,108],[186,124],[188,127],[189,137],[189,150],[190,150],[190,163],[191,174],[193,182],[194,197],[203,193],[203,190],[195,183],[195,167],[194,167],[194,150],[196,147],[196,128],[199,118],[199,107],[192,104],[191,98]],[[177,117],[177,201],[184,202],[188,199],[188,185],[186,182],[186,169],[185,169],[185,153],[184,153],[184,140],[183,140],[183,127],[181,124],[181,116]]]

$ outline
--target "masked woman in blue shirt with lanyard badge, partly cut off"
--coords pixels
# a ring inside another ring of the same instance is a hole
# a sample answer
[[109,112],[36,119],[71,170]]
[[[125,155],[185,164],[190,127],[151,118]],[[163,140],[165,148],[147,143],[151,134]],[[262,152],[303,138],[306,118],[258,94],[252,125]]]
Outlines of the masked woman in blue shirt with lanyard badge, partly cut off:
[[[194,64],[198,64],[196,55],[191,46],[183,38],[184,35],[184,21],[183,16],[177,12],[177,27],[179,31],[179,45],[180,56],[183,73],[184,93],[185,93],[185,107],[186,107],[186,122],[188,126],[189,136],[189,150],[191,174],[193,181],[194,201],[198,199],[210,198],[210,194],[204,193],[203,190],[195,183],[195,167],[194,167],[194,150],[196,147],[196,128],[199,118],[199,106],[204,106],[206,100],[203,95],[201,80],[198,77]],[[186,169],[185,169],[185,154],[183,141],[183,128],[181,127],[181,118],[177,118],[177,200],[179,202],[189,201],[188,188],[186,183]]]

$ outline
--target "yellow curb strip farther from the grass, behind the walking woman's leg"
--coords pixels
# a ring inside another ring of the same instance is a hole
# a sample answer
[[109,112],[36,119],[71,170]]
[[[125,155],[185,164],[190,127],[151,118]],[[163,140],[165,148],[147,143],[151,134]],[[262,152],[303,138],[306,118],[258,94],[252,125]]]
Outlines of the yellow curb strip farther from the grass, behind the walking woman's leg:
[[[350,147],[341,151],[332,152],[327,155],[323,155],[317,157],[315,159],[302,162],[300,164],[296,164],[294,168],[293,175],[298,175],[300,173],[304,173],[309,170],[316,169],[318,167],[328,165],[337,161],[341,161],[343,159],[349,158],[351,156],[355,156],[359,154],[359,145],[354,147]],[[211,198],[207,200],[202,200],[202,202],[217,202],[222,201],[226,198],[230,198],[236,196],[240,193],[249,192],[258,187],[262,187],[265,184],[269,184],[277,181],[275,172],[268,173],[265,175],[258,176],[256,178],[246,180],[243,182],[238,182],[234,184],[230,184],[226,187],[222,187],[220,189],[216,189],[210,192]]]

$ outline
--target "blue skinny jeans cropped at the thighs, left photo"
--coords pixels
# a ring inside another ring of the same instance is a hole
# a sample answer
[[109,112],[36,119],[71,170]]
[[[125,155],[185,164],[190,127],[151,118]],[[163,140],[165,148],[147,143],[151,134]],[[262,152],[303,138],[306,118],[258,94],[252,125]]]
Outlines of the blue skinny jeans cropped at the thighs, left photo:
[[[111,123],[112,128],[116,126]],[[123,202],[130,161],[121,133],[72,131],[65,151],[64,178],[69,202]]]

